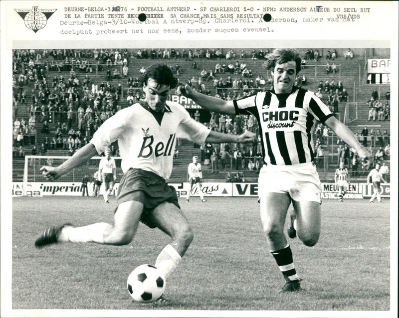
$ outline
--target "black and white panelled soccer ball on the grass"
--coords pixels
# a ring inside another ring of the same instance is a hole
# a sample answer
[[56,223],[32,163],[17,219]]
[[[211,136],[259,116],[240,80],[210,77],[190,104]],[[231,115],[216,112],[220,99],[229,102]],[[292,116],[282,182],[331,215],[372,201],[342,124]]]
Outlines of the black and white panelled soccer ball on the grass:
[[155,266],[140,265],[130,273],[127,287],[136,302],[152,303],[164,294],[165,277]]

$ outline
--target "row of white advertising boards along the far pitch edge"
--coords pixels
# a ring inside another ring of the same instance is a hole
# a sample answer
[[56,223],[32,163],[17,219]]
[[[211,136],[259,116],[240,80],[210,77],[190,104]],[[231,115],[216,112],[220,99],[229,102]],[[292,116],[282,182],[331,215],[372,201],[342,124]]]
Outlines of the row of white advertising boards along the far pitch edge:
[[[80,182],[27,182],[24,188],[23,182],[12,183],[12,196],[81,196],[82,185]],[[190,190],[190,183],[170,183],[176,188],[178,196],[185,197]],[[115,195],[119,187],[119,183],[114,185],[114,190],[111,195]],[[100,188],[100,195],[103,194],[104,186]],[[88,184],[89,196],[93,195],[93,186]],[[202,192],[205,196],[258,196],[257,183],[226,183],[226,182],[203,182]],[[322,183],[322,199],[337,199],[338,188],[334,183]],[[366,183],[351,183],[349,191],[345,198],[360,199],[368,198],[373,194],[373,187]],[[191,191],[192,196],[199,196],[198,188],[193,186]],[[391,186],[390,183],[381,184],[381,196],[390,197]]]

